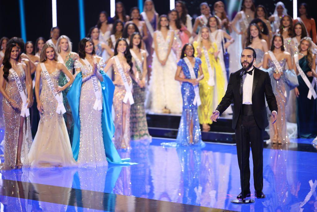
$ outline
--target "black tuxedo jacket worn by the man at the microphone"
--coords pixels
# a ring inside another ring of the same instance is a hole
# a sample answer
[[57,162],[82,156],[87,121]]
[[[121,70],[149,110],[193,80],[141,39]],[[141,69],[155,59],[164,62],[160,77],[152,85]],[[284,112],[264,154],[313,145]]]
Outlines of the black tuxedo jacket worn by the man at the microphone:
[[[232,128],[236,129],[241,110],[241,94],[240,94],[240,69],[237,72],[231,73],[226,94],[222,98],[217,107],[220,115],[230,106],[232,100],[234,104]],[[253,70],[253,85],[252,85],[252,108],[256,124],[261,129],[268,126],[268,116],[265,106],[265,97],[268,102],[268,107],[272,111],[277,112],[277,103],[272,90],[271,80],[268,72],[264,72],[256,67]]]

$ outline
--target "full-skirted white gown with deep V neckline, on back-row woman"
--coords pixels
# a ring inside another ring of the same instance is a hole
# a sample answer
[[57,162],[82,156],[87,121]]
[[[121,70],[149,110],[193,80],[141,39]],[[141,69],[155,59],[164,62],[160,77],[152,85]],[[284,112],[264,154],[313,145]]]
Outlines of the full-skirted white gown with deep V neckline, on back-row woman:
[[[161,31],[156,31],[158,55],[160,59],[166,58],[171,42],[171,31],[168,31],[164,39]],[[174,51],[167,56],[165,65],[161,65],[156,53],[153,53],[152,75],[149,82],[151,92],[151,110],[154,113],[162,113],[166,107],[171,113],[182,112],[182,99],[180,84],[174,79],[177,69]]]

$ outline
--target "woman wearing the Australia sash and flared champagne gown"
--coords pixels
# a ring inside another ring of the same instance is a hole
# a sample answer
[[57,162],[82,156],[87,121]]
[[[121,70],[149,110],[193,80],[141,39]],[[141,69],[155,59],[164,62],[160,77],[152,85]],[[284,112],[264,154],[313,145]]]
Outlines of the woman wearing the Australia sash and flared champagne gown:
[[[31,168],[66,167],[76,164],[63,117],[66,109],[61,93],[73,83],[74,76],[65,65],[57,61],[57,57],[55,47],[46,43],[41,52],[41,63],[36,67],[35,94],[41,119],[29,151]],[[63,87],[58,86],[61,72],[70,79]]]

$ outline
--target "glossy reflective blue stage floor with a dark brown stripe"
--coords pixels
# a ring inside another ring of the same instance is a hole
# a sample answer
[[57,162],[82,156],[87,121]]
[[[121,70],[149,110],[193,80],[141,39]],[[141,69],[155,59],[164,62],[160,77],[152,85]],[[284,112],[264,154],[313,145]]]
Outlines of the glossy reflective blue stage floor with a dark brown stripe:
[[[287,147],[264,149],[266,198],[248,205],[230,202],[240,192],[236,146],[175,148],[162,147],[161,142],[166,140],[153,139],[151,144],[134,141],[130,152],[120,152],[122,157],[138,162],[128,167],[23,168],[2,172],[0,210],[317,210],[317,153],[311,140],[292,140]],[[252,160],[250,166],[254,193]]]

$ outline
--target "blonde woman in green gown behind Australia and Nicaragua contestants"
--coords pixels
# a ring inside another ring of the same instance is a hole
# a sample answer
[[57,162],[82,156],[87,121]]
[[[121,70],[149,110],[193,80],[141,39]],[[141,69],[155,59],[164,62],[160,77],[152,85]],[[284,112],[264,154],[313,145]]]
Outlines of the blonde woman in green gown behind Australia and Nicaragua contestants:
[[[57,60],[61,64],[65,65],[69,72],[73,74],[74,69],[74,63],[75,60],[79,59],[79,56],[77,53],[72,52],[72,43],[70,42],[70,39],[66,35],[62,35],[57,40],[57,53],[58,57]],[[64,86],[69,82],[69,78],[64,73],[61,73],[60,78],[58,80],[59,86]],[[63,103],[66,108],[66,113],[63,114],[67,132],[69,135],[70,143],[73,141],[73,133],[74,133],[74,122],[72,117],[72,110],[69,106],[69,103],[67,101],[66,95],[69,91],[70,87],[67,87],[65,90],[62,91],[63,94]]]

